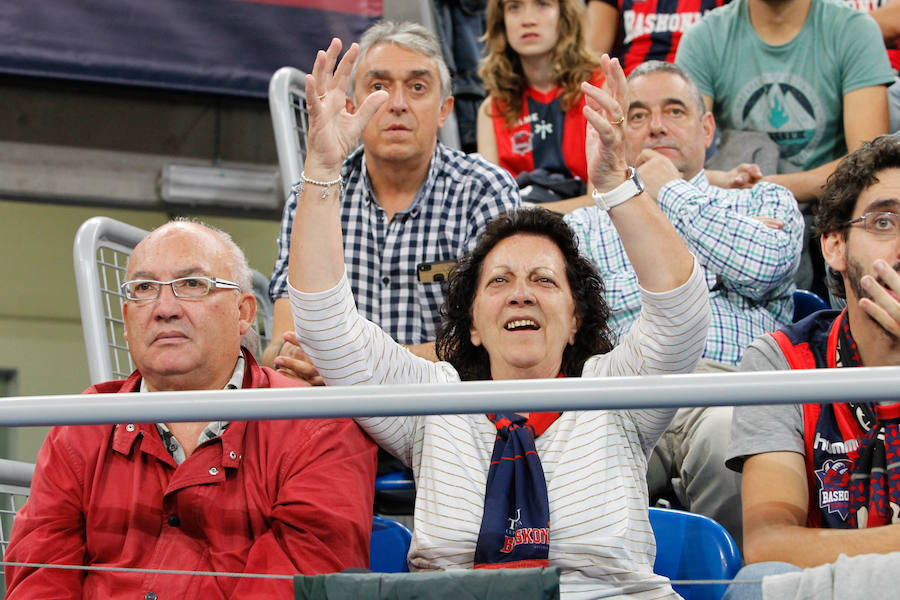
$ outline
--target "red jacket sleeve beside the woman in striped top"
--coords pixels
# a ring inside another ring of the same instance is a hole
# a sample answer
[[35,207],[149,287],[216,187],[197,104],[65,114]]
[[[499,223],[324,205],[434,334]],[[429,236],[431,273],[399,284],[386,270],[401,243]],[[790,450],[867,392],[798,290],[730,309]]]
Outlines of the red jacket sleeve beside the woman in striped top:
[[[312,575],[369,566],[376,446],[350,419],[317,423],[305,440],[276,442],[299,448],[281,467],[271,528],[253,542],[247,573]],[[241,579],[230,596],[280,597],[283,584],[273,581],[266,590],[266,580]]]

